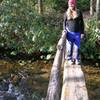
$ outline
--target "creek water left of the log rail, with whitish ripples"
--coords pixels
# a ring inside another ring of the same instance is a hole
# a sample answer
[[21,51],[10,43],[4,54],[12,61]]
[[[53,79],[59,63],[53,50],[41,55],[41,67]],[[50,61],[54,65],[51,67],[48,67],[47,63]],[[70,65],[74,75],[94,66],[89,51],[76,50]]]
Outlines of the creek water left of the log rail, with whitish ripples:
[[0,60],[0,100],[41,100],[52,61]]

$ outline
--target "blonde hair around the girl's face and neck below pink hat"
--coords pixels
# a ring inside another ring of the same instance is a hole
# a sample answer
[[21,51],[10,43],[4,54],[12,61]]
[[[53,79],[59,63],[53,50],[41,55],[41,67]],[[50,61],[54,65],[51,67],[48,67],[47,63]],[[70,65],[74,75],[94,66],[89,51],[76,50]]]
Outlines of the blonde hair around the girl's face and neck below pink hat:
[[71,10],[68,8],[66,11],[66,15],[68,20],[77,18],[78,17],[77,9],[75,8],[74,10]]

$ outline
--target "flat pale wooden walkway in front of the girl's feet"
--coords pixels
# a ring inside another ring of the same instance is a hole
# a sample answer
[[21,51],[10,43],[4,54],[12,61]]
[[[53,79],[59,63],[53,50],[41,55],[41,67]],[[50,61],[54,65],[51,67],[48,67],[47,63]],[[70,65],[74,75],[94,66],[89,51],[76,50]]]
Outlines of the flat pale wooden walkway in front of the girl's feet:
[[61,100],[89,100],[81,65],[64,63]]

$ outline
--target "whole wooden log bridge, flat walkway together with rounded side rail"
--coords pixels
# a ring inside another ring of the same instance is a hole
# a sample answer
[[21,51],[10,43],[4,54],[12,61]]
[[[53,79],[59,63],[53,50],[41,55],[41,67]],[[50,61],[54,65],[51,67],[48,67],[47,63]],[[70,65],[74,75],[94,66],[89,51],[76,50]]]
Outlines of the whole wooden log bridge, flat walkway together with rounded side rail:
[[[66,55],[66,33],[62,32],[47,90],[46,100],[89,100],[82,65],[68,65]],[[61,66],[63,82],[61,86]]]

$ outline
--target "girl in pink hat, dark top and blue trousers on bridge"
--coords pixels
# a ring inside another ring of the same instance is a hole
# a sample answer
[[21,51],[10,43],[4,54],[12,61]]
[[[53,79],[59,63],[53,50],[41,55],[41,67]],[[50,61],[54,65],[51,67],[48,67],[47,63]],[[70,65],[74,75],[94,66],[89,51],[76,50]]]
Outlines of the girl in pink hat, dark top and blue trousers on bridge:
[[76,0],[68,1],[68,9],[64,14],[64,32],[67,33],[68,64],[80,64],[80,40],[84,37],[84,21],[82,13],[76,7]]

